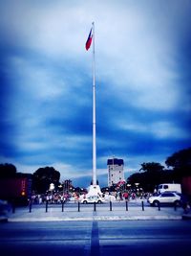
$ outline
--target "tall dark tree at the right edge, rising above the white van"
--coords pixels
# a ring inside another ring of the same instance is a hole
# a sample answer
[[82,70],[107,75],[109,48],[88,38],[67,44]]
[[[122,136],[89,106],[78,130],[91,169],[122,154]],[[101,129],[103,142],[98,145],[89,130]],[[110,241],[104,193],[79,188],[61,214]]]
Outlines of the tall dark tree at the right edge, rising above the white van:
[[165,164],[172,167],[179,181],[182,176],[191,176],[191,148],[173,153],[166,159]]

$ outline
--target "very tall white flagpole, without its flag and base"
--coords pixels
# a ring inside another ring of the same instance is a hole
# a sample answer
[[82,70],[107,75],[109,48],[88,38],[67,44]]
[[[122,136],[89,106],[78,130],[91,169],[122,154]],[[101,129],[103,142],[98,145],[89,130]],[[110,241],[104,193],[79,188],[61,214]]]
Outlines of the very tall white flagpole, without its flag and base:
[[96,185],[96,61],[95,23],[93,22],[93,185]]

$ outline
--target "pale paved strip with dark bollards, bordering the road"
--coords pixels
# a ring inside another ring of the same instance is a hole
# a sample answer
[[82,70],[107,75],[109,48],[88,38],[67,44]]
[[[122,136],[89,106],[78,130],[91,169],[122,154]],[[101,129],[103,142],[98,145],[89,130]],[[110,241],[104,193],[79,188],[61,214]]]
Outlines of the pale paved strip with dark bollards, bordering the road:
[[15,212],[9,211],[7,215],[0,216],[0,221],[147,221],[147,220],[191,220],[191,211],[184,213],[181,207],[152,207],[140,201],[134,204],[128,203],[128,208],[124,204],[113,202],[112,208],[109,204],[84,205],[78,203],[62,205],[32,205],[18,207]]

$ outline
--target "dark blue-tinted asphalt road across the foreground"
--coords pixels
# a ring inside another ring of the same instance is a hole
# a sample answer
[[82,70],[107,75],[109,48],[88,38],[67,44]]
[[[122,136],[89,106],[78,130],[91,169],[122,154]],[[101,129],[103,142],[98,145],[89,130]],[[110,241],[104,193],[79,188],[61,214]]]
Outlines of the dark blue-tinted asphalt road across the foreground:
[[0,254],[190,256],[191,221],[0,223]]

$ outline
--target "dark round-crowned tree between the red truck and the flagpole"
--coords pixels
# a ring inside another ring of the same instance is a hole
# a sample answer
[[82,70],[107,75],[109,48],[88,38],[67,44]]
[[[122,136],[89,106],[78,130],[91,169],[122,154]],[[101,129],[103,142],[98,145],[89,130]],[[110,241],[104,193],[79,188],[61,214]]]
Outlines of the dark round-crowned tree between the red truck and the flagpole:
[[50,184],[53,183],[55,189],[59,185],[60,173],[53,167],[39,168],[33,173],[33,188],[41,194],[49,190]]

